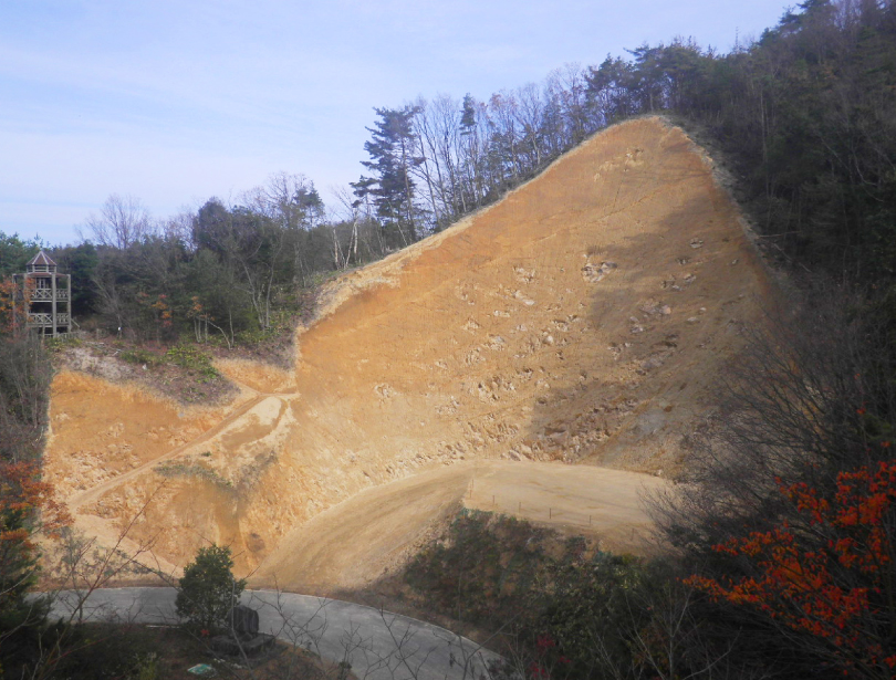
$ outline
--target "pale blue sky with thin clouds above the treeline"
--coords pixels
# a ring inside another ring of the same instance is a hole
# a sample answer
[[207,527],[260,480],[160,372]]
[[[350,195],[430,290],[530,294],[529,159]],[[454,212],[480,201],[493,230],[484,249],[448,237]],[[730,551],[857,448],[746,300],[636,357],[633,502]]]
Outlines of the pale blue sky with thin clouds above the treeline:
[[374,106],[541,83],[644,42],[728,51],[781,0],[0,0],[0,231],[77,240],[110,193],[156,217],[273,172],[330,199]]

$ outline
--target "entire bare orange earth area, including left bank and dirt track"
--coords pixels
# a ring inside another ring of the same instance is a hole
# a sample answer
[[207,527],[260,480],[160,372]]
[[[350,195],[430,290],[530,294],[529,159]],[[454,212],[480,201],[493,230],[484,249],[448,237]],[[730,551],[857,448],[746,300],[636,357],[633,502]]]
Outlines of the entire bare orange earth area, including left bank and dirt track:
[[293,375],[220,364],[229,407],[60,375],[46,472],[105,543],[145,506],[128,538],[162,564],[216,541],[257,583],[322,593],[378,577],[465,498],[638,548],[635,491],[686,464],[771,295],[709,159],[642,118],[340,278]]

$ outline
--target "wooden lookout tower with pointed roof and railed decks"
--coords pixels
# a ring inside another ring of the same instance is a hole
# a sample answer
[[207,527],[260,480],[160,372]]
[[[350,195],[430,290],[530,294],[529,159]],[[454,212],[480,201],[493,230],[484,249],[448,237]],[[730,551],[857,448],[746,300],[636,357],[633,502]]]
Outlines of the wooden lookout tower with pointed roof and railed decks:
[[56,273],[56,263],[40,251],[25,265],[24,274],[13,274],[17,304],[28,328],[41,335],[69,333],[72,324],[72,278]]

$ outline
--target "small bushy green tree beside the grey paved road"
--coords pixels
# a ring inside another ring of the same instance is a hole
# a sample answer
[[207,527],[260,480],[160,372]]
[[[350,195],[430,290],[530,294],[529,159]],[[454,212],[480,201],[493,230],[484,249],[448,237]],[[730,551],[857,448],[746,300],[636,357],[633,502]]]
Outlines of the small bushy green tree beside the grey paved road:
[[230,608],[239,603],[246,579],[230,571],[233,558],[229,546],[200,547],[196,559],[184,568],[175,605],[177,615],[209,635],[221,628]]

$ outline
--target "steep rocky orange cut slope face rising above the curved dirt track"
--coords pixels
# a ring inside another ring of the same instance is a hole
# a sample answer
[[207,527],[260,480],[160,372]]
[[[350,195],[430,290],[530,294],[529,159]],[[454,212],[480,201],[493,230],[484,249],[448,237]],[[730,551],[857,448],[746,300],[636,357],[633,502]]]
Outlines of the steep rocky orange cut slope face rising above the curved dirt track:
[[[155,493],[132,531],[171,527],[164,557],[184,564],[215,540],[249,568],[365,488],[460,460],[668,475],[767,294],[700,149],[658,118],[622,124],[492,208],[342,278],[298,337],[292,379],[239,367],[250,400],[237,417],[165,467],[73,500],[115,525]],[[59,395],[51,470],[73,450]],[[108,414],[95,418],[107,427]]]

